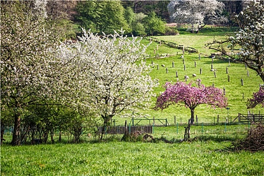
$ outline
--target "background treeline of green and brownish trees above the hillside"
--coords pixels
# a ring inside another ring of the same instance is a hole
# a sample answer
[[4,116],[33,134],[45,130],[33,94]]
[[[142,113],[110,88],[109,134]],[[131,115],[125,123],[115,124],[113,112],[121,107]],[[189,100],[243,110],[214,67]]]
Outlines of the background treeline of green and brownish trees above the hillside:
[[[232,25],[232,17],[242,10],[243,1],[220,1],[225,4],[222,15]],[[169,1],[48,1],[47,14],[64,29],[64,39],[81,35],[81,27],[106,34],[123,28],[127,35],[175,35],[170,22]],[[227,25],[227,24],[225,24]]]

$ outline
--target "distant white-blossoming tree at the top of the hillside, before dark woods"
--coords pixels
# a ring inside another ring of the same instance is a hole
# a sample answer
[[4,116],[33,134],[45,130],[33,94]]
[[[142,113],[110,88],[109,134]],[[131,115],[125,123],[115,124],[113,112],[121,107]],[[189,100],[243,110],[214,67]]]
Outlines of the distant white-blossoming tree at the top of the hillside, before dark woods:
[[226,18],[221,16],[223,9],[224,4],[216,0],[177,0],[168,4],[170,20],[191,24],[192,33],[198,33],[206,24],[226,22]]

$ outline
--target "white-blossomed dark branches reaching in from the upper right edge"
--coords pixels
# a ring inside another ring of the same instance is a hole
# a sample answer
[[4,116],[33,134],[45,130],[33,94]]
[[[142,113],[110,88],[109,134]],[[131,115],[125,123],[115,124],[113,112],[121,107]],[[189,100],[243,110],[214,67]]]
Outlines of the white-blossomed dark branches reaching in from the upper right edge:
[[[248,5],[250,6],[235,16],[240,27],[239,32],[226,41],[214,40],[207,46],[244,62],[264,81],[264,1],[250,1]],[[230,44],[230,52],[223,48],[223,43]]]

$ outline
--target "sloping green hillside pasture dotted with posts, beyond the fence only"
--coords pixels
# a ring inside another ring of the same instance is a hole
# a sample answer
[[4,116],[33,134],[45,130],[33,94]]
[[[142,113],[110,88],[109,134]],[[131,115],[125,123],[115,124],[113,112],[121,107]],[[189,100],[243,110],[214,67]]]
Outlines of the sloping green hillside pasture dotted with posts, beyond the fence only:
[[[247,99],[251,98],[253,92],[258,91],[259,84],[263,83],[260,77],[256,75],[256,72],[246,68],[243,63],[229,62],[227,58],[224,60],[217,59],[217,57],[212,60],[209,57],[214,51],[205,48],[205,44],[212,41],[213,37],[217,39],[227,37],[225,36],[227,31],[222,28],[220,29],[224,32],[216,33],[217,36],[212,36],[211,32],[207,32],[209,29],[205,29],[204,33],[197,35],[154,36],[155,38],[174,42],[179,45],[188,45],[200,51],[198,53],[185,52],[184,58],[182,57],[182,49],[171,48],[164,44],[160,46],[159,42],[154,42],[153,40],[146,50],[148,55],[145,58],[146,62],[148,64],[153,63],[153,70],[150,76],[158,79],[159,82],[159,86],[154,89],[157,95],[164,91],[162,85],[166,81],[185,81],[186,75],[189,77],[187,82],[199,78],[206,86],[213,85],[225,91],[230,109],[211,109],[207,105],[200,105],[195,109],[195,115],[198,116],[199,123],[213,123],[218,116],[219,122],[225,122],[227,117],[229,121],[232,121],[238,116],[238,113],[247,115],[248,111],[254,114],[264,114],[264,110],[260,106],[257,106],[255,109],[247,109],[246,107]],[[144,39],[143,43],[145,45],[148,44],[149,39]],[[156,54],[154,54],[154,49]],[[159,54],[159,57],[155,57],[157,54]],[[166,54],[170,57],[166,57]],[[194,74],[196,76],[193,76]],[[152,107],[154,107],[156,98],[152,100]],[[153,117],[156,119],[166,118],[169,124],[174,123],[174,116],[176,117],[176,122],[179,123],[181,121],[188,122],[188,119],[191,117],[190,110],[184,106],[170,106],[162,112],[149,109],[143,111],[143,113],[149,114],[149,117],[146,116],[149,119],[153,119]],[[118,117],[114,118],[116,119],[116,124],[119,125],[124,125],[124,121],[127,120]],[[141,124],[144,123],[142,122]]]

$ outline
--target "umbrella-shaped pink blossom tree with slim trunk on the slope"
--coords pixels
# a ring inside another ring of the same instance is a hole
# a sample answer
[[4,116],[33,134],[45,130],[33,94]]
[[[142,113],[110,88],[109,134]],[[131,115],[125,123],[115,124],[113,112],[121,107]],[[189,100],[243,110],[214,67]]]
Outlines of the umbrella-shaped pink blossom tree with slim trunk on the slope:
[[193,82],[176,82],[171,84],[166,82],[165,92],[158,98],[155,110],[163,110],[169,105],[184,104],[186,108],[191,110],[191,124],[194,124],[194,110],[201,104],[211,105],[212,108],[225,108],[227,106],[227,98],[221,89],[216,87],[206,87],[201,84],[201,79],[196,80],[197,86],[192,86]]

